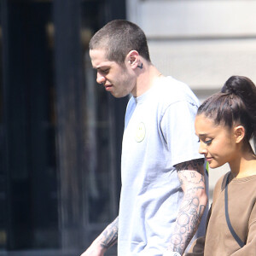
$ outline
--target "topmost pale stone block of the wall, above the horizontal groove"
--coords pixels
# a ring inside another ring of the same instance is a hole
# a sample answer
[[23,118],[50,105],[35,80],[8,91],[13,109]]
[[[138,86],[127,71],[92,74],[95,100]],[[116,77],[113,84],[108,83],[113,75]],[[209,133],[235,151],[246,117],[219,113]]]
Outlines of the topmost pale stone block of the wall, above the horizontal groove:
[[149,38],[255,35],[253,0],[127,0],[127,9]]

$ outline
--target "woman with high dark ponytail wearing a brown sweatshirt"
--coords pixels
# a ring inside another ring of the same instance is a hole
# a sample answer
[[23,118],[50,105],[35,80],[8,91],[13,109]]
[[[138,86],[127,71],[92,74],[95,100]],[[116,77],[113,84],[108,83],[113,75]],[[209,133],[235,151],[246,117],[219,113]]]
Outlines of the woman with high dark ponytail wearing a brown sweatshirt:
[[249,143],[256,137],[255,84],[230,77],[198,109],[195,132],[209,166],[228,163],[230,172],[214,188],[206,237],[186,255],[256,255],[256,155]]

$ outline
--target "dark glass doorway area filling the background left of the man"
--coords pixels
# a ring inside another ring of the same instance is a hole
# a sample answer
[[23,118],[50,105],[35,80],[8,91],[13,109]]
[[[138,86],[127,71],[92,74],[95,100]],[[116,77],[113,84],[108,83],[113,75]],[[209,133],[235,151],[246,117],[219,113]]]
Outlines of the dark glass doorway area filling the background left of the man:
[[0,9],[0,254],[74,255],[118,213],[127,99],[96,85],[88,43],[125,1]]

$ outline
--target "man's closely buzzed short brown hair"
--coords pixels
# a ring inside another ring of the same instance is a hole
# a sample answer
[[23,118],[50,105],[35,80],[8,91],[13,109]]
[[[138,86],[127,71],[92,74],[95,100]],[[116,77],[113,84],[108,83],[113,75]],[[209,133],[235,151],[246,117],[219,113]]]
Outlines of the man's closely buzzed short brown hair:
[[112,20],[90,39],[90,49],[105,49],[109,61],[124,65],[125,56],[135,49],[150,62],[148,42],[143,30],[128,20]]

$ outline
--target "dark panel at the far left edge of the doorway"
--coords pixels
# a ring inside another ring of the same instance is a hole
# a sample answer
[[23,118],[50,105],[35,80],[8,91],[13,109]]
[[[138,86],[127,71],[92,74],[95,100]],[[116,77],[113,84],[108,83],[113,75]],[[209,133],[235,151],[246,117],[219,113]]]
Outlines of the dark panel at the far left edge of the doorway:
[[3,1],[1,9],[1,188],[7,209],[1,247],[57,247],[51,7],[49,2]]

